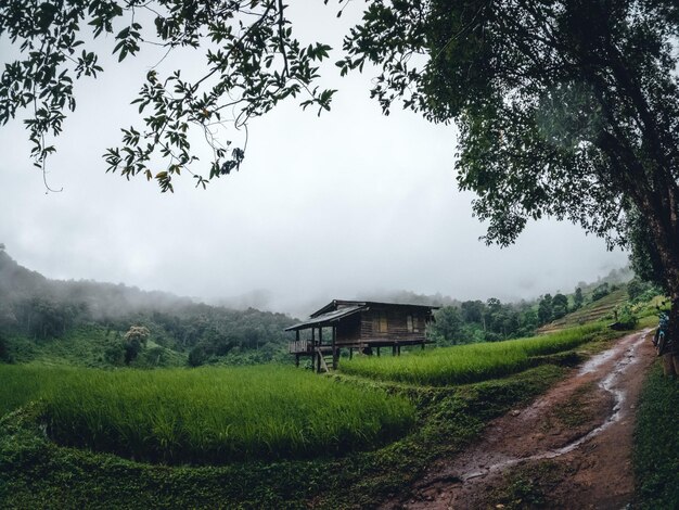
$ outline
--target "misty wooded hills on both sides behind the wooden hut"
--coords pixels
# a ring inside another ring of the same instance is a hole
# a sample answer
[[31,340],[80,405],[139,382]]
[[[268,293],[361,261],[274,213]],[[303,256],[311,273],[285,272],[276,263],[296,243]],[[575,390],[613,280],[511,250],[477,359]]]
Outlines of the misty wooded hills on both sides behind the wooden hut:
[[[438,345],[495,342],[531,335],[537,328],[582,306],[584,291],[588,301],[595,301],[631,276],[625,268],[594,283],[580,282],[571,298],[556,292],[535,301],[502,303],[495,297],[460,301],[411,291],[361,298],[440,307],[427,329],[428,337]],[[656,292],[639,279],[633,279],[629,289],[632,298]],[[7,339],[13,334],[49,342],[92,324],[105,330],[107,340],[101,356],[112,366],[136,362],[148,345],[154,345],[158,356],[162,348],[182,353],[192,367],[225,357],[239,364],[287,360],[287,341],[293,337],[283,330],[295,322],[284,314],[210,306],[121,283],[50,280],[0,250],[0,360],[10,359]]]

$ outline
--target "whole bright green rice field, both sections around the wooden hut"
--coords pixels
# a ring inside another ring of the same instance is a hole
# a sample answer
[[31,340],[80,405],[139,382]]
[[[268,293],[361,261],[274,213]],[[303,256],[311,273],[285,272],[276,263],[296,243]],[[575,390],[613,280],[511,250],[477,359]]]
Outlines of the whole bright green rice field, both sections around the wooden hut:
[[[604,328],[359,356],[344,359],[341,370],[420,385],[471,383],[525,370],[536,356],[572,349]],[[403,396],[292,367],[0,366],[1,415],[35,399],[43,403],[48,433],[62,445],[165,463],[336,456],[402,436],[415,416]]]

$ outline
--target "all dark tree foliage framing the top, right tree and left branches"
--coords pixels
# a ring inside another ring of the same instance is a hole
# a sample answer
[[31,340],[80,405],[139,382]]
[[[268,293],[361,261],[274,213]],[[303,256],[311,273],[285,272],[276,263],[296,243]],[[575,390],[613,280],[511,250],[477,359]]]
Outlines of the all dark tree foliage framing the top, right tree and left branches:
[[[320,1],[320,0],[319,0]],[[342,1],[340,1],[342,3]],[[143,128],[124,131],[111,170],[156,177],[164,189],[193,168],[187,132],[203,130],[214,148],[209,174],[243,158],[220,146],[210,126],[236,107],[235,122],[306,93],[304,105],[329,106],[317,90],[324,44],[300,44],[283,0],[5,0],[0,35],[21,44],[5,66],[0,120],[18,109],[39,166],[52,151],[64,110],[75,107],[73,79],[101,71],[81,27],[115,34],[114,53],[148,41],[206,47],[206,73],[149,73],[138,99]],[[145,13],[144,16],[136,15]],[[611,246],[632,245],[672,299],[679,322],[679,89],[675,0],[371,0],[347,35],[343,72],[381,67],[372,94],[388,114],[394,102],[459,127],[459,184],[477,193],[488,242],[515,241],[526,222],[569,219]],[[151,162],[169,161],[153,174]]]

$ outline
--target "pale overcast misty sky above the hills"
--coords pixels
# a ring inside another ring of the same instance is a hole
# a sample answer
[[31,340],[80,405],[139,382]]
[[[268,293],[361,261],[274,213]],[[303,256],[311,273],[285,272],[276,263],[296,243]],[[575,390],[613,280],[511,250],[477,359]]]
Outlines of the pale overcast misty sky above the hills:
[[[300,7],[298,37],[338,48],[353,13],[337,21],[320,1]],[[1,60],[11,55],[1,40]],[[159,71],[197,73],[197,55],[175,55]],[[137,123],[129,102],[158,59],[104,60],[105,73],[78,86],[49,161],[61,193],[46,194],[21,123],[0,128],[0,242],[20,264],[208,301],[256,291],[260,306],[305,315],[308,303],[377,291],[503,301],[572,292],[627,262],[550,220],[530,224],[514,246],[486,246],[473,195],[456,189],[454,126],[397,110],[384,117],[369,99],[372,75],[340,78],[332,65],[333,111],[319,118],[286,103],[255,119],[241,171],[207,191],[185,178],[162,194],[145,179],[105,174],[101,154]]]

